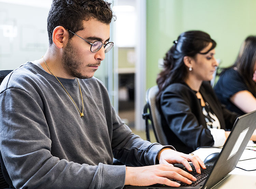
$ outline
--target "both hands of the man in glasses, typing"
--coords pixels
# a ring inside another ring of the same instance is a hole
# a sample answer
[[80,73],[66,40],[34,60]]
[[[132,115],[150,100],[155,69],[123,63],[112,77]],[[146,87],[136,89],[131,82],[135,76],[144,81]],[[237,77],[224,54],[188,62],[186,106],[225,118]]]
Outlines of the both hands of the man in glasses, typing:
[[179,180],[186,184],[196,181],[196,178],[186,171],[174,167],[173,164],[181,163],[188,171],[192,168],[188,161],[191,161],[196,168],[197,173],[201,173],[200,166],[206,169],[204,163],[198,156],[191,156],[176,152],[170,148],[163,148],[158,156],[160,164],[144,167],[126,167],[125,185],[149,186],[153,184],[164,184],[173,187],[179,187],[180,184],[170,179]]

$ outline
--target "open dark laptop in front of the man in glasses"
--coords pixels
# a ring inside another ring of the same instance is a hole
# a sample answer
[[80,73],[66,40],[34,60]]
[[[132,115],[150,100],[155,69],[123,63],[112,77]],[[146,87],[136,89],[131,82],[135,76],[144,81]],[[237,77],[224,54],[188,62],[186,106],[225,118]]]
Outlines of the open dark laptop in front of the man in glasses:
[[[205,166],[211,167],[207,177],[196,186],[180,186],[178,189],[210,189],[229,176],[229,173],[236,167],[247,143],[249,142],[256,128],[256,110],[244,114],[237,118],[234,126],[227,138],[221,153],[215,163],[205,163]],[[201,169],[202,170],[202,169]],[[201,171],[203,172],[203,171]],[[124,189],[168,189],[177,188],[166,185],[151,186],[129,186]]]

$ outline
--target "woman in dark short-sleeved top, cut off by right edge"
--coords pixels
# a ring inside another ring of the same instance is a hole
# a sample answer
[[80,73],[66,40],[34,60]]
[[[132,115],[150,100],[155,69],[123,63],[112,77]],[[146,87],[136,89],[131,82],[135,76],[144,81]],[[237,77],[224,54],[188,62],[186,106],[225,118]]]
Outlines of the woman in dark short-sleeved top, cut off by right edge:
[[227,109],[244,114],[256,110],[256,36],[241,45],[235,63],[224,69],[214,90]]

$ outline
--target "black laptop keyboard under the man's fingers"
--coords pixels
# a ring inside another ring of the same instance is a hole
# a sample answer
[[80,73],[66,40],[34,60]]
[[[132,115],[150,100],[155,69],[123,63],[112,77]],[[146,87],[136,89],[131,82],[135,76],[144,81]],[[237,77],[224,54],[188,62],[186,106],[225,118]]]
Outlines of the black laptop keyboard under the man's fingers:
[[201,174],[198,174],[195,170],[195,167],[193,165],[191,165],[192,167],[192,170],[193,171],[188,171],[185,167],[182,168],[184,171],[190,173],[191,175],[193,175],[194,177],[196,177],[196,181],[192,181],[192,184],[188,185],[188,184],[185,184],[185,183],[182,183],[180,181],[177,181],[177,180],[173,180],[173,181],[176,181],[177,183],[180,183],[181,186],[196,186],[198,185],[200,182],[202,182],[205,178],[208,177],[209,173],[211,172],[211,169],[213,166],[209,166],[209,165],[205,165],[206,169],[201,169]]

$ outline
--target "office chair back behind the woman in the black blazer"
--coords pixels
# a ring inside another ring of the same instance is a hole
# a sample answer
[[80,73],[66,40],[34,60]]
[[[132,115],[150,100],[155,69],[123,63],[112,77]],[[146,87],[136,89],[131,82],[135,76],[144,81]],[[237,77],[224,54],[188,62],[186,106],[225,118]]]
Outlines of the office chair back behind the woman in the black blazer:
[[158,93],[158,86],[155,85],[146,92],[146,104],[144,106],[142,117],[146,123],[146,138],[150,141],[149,134],[149,120],[153,127],[155,137],[158,143],[168,145],[166,135],[162,128],[161,115],[156,106],[156,96]]

